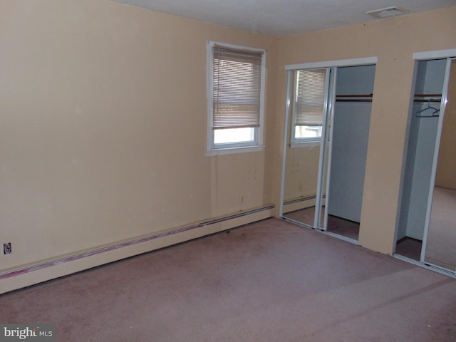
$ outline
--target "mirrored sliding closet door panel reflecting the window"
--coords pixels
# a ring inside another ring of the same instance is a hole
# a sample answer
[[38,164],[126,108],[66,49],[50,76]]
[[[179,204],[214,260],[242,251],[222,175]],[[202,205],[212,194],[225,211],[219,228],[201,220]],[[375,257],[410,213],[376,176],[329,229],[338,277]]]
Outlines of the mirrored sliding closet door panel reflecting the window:
[[[330,68],[288,71],[281,214],[323,229]],[[323,171],[322,171],[323,170]]]

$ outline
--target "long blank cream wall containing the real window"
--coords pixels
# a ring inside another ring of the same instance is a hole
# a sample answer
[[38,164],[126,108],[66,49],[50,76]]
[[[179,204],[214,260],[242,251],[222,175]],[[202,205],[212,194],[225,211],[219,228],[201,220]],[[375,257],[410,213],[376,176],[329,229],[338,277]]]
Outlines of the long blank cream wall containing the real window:
[[0,2],[0,273],[271,202],[268,147],[205,155],[208,40],[268,50],[271,121],[277,38],[108,0]]

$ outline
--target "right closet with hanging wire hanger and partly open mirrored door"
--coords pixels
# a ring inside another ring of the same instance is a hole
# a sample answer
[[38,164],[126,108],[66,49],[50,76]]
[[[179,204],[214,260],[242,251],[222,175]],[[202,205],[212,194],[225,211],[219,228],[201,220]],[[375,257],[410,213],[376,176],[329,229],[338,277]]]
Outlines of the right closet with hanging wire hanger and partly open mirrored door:
[[395,253],[456,273],[456,60],[417,61]]

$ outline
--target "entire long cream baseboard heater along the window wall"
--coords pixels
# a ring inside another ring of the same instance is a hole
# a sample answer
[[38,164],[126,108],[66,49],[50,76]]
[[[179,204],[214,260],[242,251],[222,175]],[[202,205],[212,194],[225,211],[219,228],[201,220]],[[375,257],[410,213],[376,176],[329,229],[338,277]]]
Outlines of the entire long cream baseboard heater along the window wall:
[[0,273],[0,294],[273,216],[274,205],[207,219]]

